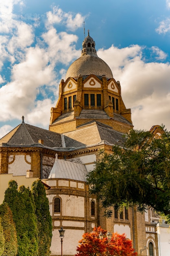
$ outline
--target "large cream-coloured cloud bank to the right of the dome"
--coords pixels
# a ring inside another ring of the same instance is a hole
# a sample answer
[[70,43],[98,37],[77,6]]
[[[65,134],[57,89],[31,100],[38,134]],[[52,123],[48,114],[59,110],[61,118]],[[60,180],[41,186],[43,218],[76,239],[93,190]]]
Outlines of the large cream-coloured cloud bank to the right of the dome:
[[100,49],[98,56],[111,67],[116,81],[120,81],[122,98],[126,108],[131,108],[135,128],[150,129],[163,123],[169,129],[170,64],[144,63],[142,50],[138,45],[123,49],[112,45]]

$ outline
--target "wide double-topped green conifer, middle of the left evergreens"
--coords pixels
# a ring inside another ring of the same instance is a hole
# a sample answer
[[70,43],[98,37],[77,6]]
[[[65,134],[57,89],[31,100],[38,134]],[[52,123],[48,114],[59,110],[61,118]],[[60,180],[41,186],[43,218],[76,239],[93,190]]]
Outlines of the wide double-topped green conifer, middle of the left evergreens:
[[17,231],[17,256],[36,256],[38,251],[37,218],[33,195],[25,186],[17,189],[17,182],[11,180],[5,191],[4,202],[7,202],[12,213]]

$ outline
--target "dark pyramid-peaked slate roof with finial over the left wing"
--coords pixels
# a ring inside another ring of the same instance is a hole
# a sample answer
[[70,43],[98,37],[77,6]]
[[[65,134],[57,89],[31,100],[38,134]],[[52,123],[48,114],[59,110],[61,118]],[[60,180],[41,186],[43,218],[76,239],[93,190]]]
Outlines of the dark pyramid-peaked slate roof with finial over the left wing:
[[45,147],[62,147],[61,134],[25,124],[24,122],[2,137],[0,144],[7,144],[7,146],[32,146],[37,144],[39,139],[44,141]]

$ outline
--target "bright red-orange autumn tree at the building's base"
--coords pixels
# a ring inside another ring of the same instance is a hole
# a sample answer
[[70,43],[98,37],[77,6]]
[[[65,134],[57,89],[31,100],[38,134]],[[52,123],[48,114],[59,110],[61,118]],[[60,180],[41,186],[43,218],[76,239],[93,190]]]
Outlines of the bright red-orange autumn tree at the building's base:
[[[100,239],[100,232],[104,235]],[[110,240],[106,237],[107,230],[101,227],[94,228],[92,233],[83,234],[77,247],[75,256],[136,256],[132,248],[132,241],[126,239],[125,234],[113,233]]]

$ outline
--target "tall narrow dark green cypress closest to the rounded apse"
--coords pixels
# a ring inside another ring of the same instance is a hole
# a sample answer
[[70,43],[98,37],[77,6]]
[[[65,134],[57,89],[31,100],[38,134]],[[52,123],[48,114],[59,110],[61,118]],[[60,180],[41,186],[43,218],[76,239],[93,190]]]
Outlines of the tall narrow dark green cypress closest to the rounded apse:
[[35,214],[38,221],[38,255],[49,256],[52,238],[52,218],[49,211],[49,202],[41,180],[36,180],[32,185],[35,202]]

